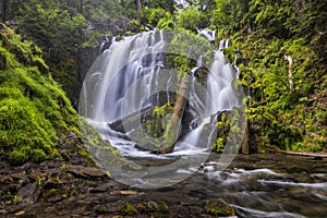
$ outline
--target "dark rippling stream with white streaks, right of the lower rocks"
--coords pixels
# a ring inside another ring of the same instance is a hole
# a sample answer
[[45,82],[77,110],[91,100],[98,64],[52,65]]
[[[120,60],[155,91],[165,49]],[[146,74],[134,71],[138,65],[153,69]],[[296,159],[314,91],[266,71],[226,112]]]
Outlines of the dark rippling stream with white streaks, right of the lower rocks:
[[217,157],[199,170],[199,192],[232,204],[240,217],[326,217],[326,160],[251,155],[217,171]]

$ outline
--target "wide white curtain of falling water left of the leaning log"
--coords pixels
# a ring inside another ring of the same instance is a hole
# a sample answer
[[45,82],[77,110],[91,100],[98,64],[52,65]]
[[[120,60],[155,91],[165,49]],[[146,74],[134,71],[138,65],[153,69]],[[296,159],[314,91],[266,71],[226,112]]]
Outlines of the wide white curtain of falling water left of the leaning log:
[[[135,112],[142,104],[135,96],[129,102],[128,114],[121,114],[122,101],[128,89],[141,76],[144,76],[144,86],[135,90],[135,95],[146,93],[156,78],[153,73],[162,65],[160,52],[165,51],[164,35],[160,32],[149,32],[143,35],[128,37],[121,41],[112,41],[111,47],[104,52],[98,71],[89,76],[99,76],[94,84],[96,99],[92,101],[94,111],[88,118],[101,122],[112,122],[123,116]],[[159,39],[157,39],[158,37]],[[147,56],[144,56],[147,55]],[[90,84],[92,85],[92,84]]]

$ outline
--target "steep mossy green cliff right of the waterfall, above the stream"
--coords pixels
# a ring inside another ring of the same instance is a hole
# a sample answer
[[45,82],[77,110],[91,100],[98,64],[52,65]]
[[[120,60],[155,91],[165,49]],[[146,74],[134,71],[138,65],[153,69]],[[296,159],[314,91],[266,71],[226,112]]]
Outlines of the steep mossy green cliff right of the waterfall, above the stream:
[[[242,51],[253,150],[326,150],[326,8],[323,1],[220,1],[220,38]],[[231,56],[230,56],[231,58]]]

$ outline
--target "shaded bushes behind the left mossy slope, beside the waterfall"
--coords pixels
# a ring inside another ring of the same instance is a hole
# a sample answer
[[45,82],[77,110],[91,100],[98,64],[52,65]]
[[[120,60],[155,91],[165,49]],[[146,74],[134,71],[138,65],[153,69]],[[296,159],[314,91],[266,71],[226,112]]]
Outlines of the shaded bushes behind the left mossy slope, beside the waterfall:
[[76,53],[83,41],[85,17],[78,11],[55,1],[22,2],[16,13],[20,29],[44,50],[52,77],[72,96],[76,87]]

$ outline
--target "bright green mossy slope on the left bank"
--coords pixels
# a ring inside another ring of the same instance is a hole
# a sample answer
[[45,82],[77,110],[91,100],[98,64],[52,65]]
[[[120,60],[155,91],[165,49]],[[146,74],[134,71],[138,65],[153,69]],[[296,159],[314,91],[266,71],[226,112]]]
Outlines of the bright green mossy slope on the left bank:
[[77,114],[48,71],[34,43],[0,26],[0,148],[12,164],[60,156],[59,138],[78,134]]

